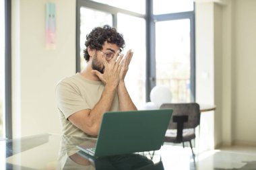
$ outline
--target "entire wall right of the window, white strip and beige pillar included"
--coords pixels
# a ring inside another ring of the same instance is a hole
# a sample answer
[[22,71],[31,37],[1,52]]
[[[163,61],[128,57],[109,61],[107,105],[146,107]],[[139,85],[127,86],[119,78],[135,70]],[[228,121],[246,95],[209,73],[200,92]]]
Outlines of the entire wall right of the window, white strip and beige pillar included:
[[196,3],[197,99],[217,105],[214,146],[256,146],[255,21],[254,0]]

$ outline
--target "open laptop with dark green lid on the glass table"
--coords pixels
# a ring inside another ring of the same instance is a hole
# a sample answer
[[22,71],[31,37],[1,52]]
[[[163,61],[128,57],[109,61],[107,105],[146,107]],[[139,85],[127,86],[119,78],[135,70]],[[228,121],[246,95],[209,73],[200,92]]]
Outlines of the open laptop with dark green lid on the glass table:
[[106,112],[96,146],[78,145],[94,157],[160,149],[172,116],[171,109]]

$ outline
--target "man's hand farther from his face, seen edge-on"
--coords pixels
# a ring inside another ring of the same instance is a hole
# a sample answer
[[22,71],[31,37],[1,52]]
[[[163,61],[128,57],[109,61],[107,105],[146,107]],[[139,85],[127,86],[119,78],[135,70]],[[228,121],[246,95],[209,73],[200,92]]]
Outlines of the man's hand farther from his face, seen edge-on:
[[125,80],[125,75],[129,69],[129,64],[131,62],[131,58],[133,57],[133,52],[130,50],[128,50],[125,58],[123,58],[122,62],[121,62],[121,71],[119,74],[119,81],[124,81]]

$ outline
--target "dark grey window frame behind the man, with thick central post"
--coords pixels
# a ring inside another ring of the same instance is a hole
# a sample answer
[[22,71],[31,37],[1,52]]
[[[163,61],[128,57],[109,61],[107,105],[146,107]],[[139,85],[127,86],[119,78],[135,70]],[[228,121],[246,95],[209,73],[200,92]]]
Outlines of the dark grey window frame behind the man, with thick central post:
[[172,19],[190,19],[191,22],[191,102],[195,101],[195,3],[193,11],[180,13],[153,14],[153,0],[146,1],[146,14],[127,11],[118,7],[90,0],[77,0],[76,6],[76,72],[80,71],[80,7],[88,7],[113,14],[113,26],[117,28],[117,13],[125,13],[146,19],[146,101],[150,101],[150,91],[156,86],[156,22]]

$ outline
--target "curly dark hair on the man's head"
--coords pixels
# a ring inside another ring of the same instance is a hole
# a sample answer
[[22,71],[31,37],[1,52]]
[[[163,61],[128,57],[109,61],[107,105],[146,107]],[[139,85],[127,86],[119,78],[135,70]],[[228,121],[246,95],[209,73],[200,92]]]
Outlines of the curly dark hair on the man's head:
[[120,52],[125,47],[125,40],[123,39],[123,34],[117,32],[117,29],[112,28],[108,25],[101,27],[96,27],[86,36],[86,49],[84,49],[84,59],[88,62],[90,56],[88,54],[88,46],[91,49],[102,50],[102,45],[104,42],[111,44],[117,44],[120,48]]

